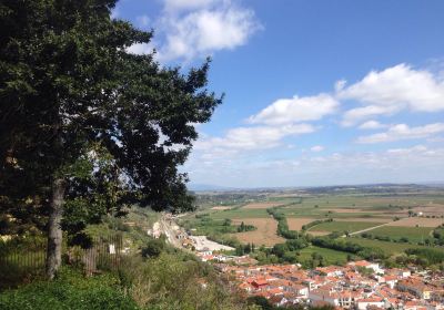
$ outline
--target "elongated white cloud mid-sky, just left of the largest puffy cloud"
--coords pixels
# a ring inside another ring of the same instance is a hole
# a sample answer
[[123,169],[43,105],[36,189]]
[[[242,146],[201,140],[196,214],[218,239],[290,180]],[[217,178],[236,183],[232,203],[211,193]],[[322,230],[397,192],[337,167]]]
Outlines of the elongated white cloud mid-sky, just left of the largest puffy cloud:
[[319,94],[280,99],[249,118],[251,124],[281,125],[317,121],[336,111],[339,103],[331,95]]

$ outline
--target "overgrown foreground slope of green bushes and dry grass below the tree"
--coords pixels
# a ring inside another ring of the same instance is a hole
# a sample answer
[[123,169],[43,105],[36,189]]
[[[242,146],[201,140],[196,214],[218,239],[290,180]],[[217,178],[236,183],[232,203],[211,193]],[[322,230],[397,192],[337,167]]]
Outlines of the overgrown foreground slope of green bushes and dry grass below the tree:
[[[102,231],[102,225],[92,228],[95,234]],[[228,282],[211,265],[173,248],[164,237],[139,236],[138,227],[121,224],[113,228],[125,234],[140,250],[122,256],[118,269],[104,265],[100,276],[85,278],[81,264],[77,267],[67,265],[53,281],[38,278],[31,285],[0,292],[0,309],[205,310],[249,307],[229,289]],[[13,246],[10,244],[11,248]],[[8,279],[2,278],[2,281]]]

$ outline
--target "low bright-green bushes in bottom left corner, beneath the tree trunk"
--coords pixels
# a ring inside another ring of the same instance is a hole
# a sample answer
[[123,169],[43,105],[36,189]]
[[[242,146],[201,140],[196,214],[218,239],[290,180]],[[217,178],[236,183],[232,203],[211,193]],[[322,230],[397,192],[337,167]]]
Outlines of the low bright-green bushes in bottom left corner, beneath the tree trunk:
[[84,278],[63,269],[54,281],[37,281],[20,289],[0,293],[0,309],[139,309],[111,275]]

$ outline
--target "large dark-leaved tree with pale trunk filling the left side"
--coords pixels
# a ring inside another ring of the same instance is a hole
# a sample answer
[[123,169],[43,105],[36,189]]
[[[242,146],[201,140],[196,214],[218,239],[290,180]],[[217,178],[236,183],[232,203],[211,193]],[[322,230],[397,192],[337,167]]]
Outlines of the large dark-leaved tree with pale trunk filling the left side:
[[221,102],[205,90],[208,61],[182,73],[129,53],[152,33],[112,19],[114,6],[0,0],[0,204],[17,221],[43,219],[50,278],[63,215],[192,207],[178,166],[198,137],[193,124]]

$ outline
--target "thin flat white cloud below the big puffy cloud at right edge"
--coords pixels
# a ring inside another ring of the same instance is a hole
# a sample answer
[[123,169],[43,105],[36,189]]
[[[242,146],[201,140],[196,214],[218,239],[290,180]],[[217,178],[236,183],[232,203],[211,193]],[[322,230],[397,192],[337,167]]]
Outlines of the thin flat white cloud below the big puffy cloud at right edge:
[[444,123],[427,124],[424,126],[408,127],[406,124],[391,126],[384,133],[377,133],[357,138],[357,143],[382,143],[400,140],[425,138],[444,132]]

